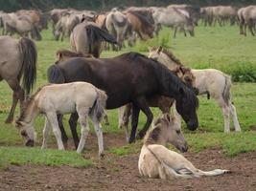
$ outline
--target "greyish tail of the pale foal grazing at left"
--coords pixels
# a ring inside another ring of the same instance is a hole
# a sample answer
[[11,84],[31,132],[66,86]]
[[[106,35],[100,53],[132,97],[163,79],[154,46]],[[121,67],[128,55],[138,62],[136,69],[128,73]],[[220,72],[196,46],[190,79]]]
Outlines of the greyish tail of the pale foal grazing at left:
[[105,102],[107,96],[104,91],[96,89],[97,97],[90,110],[90,115],[97,120],[101,120],[105,116]]

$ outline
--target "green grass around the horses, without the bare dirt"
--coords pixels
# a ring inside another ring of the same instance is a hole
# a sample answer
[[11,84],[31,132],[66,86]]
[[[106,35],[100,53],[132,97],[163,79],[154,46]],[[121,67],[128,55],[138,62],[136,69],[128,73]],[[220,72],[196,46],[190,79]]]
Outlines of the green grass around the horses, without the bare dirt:
[[[46,70],[54,63],[56,51],[69,48],[68,39],[65,39],[64,42],[54,41],[50,30],[42,32],[42,36],[43,40],[36,42],[38,51],[36,87],[47,83]],[[134,48],[124,49],[118,53],[104,52],[102,57],[111,57],[129,51],[147,53],[148,46],[160,44],[171,49],[185,65],[190,67],[217,68],[225,73],[234,74],[236,81],[256,80],[256,38],[239,35],[237,27],[198,27],[196,29],[196,37],[184,37],[180,33],[176,39],[172,37],[170,30],[164,29],[160,32],[159,37],[155,37],[148,42],[138,42]],[[38,135],[37,147],[34,149],[21,148],[23,140],[17,130],[12,124],[4,123],[12,103],[11,89],[6,82],[0,83],[0,89],[0,166],[6,166],[10,163],[24,164],[29,162],[84,167],[92,163],[92,161],[83,159],[82,155],[72,151],[41,151],[38,146],[41,143],[43,117],[38,117],[35,123]],[[232,96],[243,132],[229,135],[222,133],[223,118],[221,109],[213,100],[208,100],[206,96],[200,96],[198,131],[189,132],[186,128],[183,128],[185,137],[195,152],[206,148],[220,148],[228,156],[234,156],[242,152],[256,150],[256,83],[234,83]],[[154,117],[160,114],[158,109],[153,108],[152,111]],[[110,127],[105,128],[104,131],[123,134],[122,130],[117,129],[117,111],[108,111],[107,114]],[[17,112],[16,115],[18,115]],[[65,126],[67,126],[67,119],[68,117],[64,119]],[[144,122],[145,117],[141,115],[139,128],[142,127]],[[66,129],[68,130],[68,128]],[[68,134],[70,136],[69,130]],[[50,141],[56,142],[53,137]],[[139,149],[140,144],[132,144],[121,148],[110,148],[108,152],[116,155],[127,155],[138,152]]]

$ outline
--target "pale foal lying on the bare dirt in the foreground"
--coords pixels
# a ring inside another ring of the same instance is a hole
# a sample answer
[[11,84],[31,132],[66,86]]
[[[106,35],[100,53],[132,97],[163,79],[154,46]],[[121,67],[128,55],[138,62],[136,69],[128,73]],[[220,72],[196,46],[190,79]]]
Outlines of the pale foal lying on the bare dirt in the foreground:
[[181,154],[169,150],[167,143],[173,144],[179,151],[188,150],[187,142],[181,133],[179,122],[169,115],[159,117],[153,128],[144,138],[144,144],[138,161],[141,176],[155,179],[172,180],[174,178],[200,178],[218,176],[228,170],[215,169],[202,171]]

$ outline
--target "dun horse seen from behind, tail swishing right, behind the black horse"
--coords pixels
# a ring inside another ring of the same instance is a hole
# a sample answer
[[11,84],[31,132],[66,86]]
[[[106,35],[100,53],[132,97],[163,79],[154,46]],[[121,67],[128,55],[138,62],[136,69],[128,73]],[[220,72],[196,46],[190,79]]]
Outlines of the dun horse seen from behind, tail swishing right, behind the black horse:
[[108,32],[101,30],[94,22],[86,20],[78,24],[70,35],[72,51],[77,53],[91,53],[99,57],[102,42],[116,44],[116,39]]

